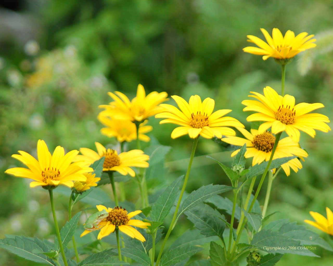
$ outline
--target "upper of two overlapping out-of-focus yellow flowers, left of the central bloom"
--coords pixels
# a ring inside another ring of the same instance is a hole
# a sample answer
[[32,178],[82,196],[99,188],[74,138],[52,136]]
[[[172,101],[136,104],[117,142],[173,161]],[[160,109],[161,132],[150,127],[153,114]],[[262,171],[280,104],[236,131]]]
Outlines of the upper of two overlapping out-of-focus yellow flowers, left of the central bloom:
[[166,92],[153,91],[146,96],[141,84],[138,85],[137,96],[132,101],[119,91],[108,92],[108,94],[115,101],[110,102],[109,105],[100,105],[100,108],[105,108],[100,114],[113,119],[129,119],[139,122],[160,113],[162,108],[158,105],[167,100]]

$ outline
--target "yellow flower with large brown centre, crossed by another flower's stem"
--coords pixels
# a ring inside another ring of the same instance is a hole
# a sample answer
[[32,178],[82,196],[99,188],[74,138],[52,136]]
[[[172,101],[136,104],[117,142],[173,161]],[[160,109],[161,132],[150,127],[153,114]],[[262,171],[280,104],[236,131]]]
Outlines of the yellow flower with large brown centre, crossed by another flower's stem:
[[[267,131],[258,134],[258,130],[256,129],[251,129],[251,133],[241,127],[237,127],[237,129],[246,139],[235,136],[228,136],[226,138],[222,138],[222,140],[226,143],[237,146],[243,146],[246,143],[246,152],[244,156],[245,158],[253,157],[252,166],[260,164],[263,161],[269,161],[275,142],[275,136]],[[235,150],[231,154],[231,157],[235,156],[239,151],[240,149]],[[279,140],[277,143],[277,147],[273,155],[273,160],[289,156],[299,156],[302,158],[307,157],[308,154],[306,151],[299,147],[298,143],[294,142],[290,137],[286,137]],[[302,164],[297,158],[294,158],[289,162],[281,165],[281,167],[286,175],[289,176],[290,168],[297,173],[298,169],[302,168]]]

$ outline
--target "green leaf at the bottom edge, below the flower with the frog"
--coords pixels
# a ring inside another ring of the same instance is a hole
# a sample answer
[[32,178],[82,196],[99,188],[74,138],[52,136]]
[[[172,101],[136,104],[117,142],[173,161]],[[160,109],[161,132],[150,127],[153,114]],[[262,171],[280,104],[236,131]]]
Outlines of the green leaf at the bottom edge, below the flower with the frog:
[[115,257],[114,249],[107,249],[99,253],[94,253],[81,261],[78,266],[102,266],[102,265],[128,265],[127,262],[119,261]]

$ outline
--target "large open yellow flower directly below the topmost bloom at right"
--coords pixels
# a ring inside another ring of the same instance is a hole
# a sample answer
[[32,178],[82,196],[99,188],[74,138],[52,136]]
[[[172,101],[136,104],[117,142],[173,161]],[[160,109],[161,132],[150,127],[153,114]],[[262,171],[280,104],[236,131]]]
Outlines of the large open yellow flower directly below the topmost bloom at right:
[[272,133],[276,134],[285,131],[295,142],[299,142],[300,132],[304,131],[311,137],[316,135],[314,129],[328,132],[331,128],[326,115],[309,113],[315,109],[322,108],[322,103],[298,103],[295,105],[295,98],[291,95],[278,95],[275,90],[267,86],[264,88],[264,95],[251,91],[256,100],[244,100],[246,105],[243,111],[256,111],[258,113],[249,115],[247,121],[266,121],[259,126],[259,134],[269,127]]

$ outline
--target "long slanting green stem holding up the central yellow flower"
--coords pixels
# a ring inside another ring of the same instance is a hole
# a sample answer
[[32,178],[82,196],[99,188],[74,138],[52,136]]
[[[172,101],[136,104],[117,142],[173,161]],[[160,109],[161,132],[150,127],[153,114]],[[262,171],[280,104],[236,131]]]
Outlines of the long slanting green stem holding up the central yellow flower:
[[183,194],[184,194],[184,191],[185,191],[185,188],[186,188],[186,184],[187,184],[187,180],[188,180],[188,176],[189,176],[189,172],[191,170],[191,166],[192,166],[192,161],[193,161],[193,157],[194,157],[194,153],[195,153],[195,149],[196,149],[196,145],[198,144],[198,140],[199,140],[199,136],[196,137],[193,141],[193,146],[192,146],[192,152],[191,152],[191,157],[189,158],[189,163],[188,163],[188,167],[187,167],[187,171],[186,171],[186,175],[185,175],[185,179],[184,179],[184,183],[183,183],[183,187],[181,188],[181,191],[180,191],[180,195],[179,195],[179,199],[177,201],[177,205],[176,205],[176,209],[174,211],[174,214],[173,214],[173,217],[172,217],[172,220],[171,220],[171,224],[169,226],[169,229],[167,230],[167,233],[166,233],[166,236],[164,238],[164,241],[162,243],[162,247],[161,247],[161,250],[159,252],[159,255],[157,257],[157,261],[156,261],[156,266],[159,265],[160,263],[160,260],[161,260],[161,256],[162,256],[162,253],[163,253],[163,249],[166,245],[166,241],[167,239],[169,238],[169,235],[173,229],[173,226],[174,226],[174,223],[175,223],[175,220],[176,220],[176,217],[177,217],[177,212],[178,212],[178,209],[179,209],[179,205],[180,205],[180,201],[181,201],[181,198],[183,197]]

